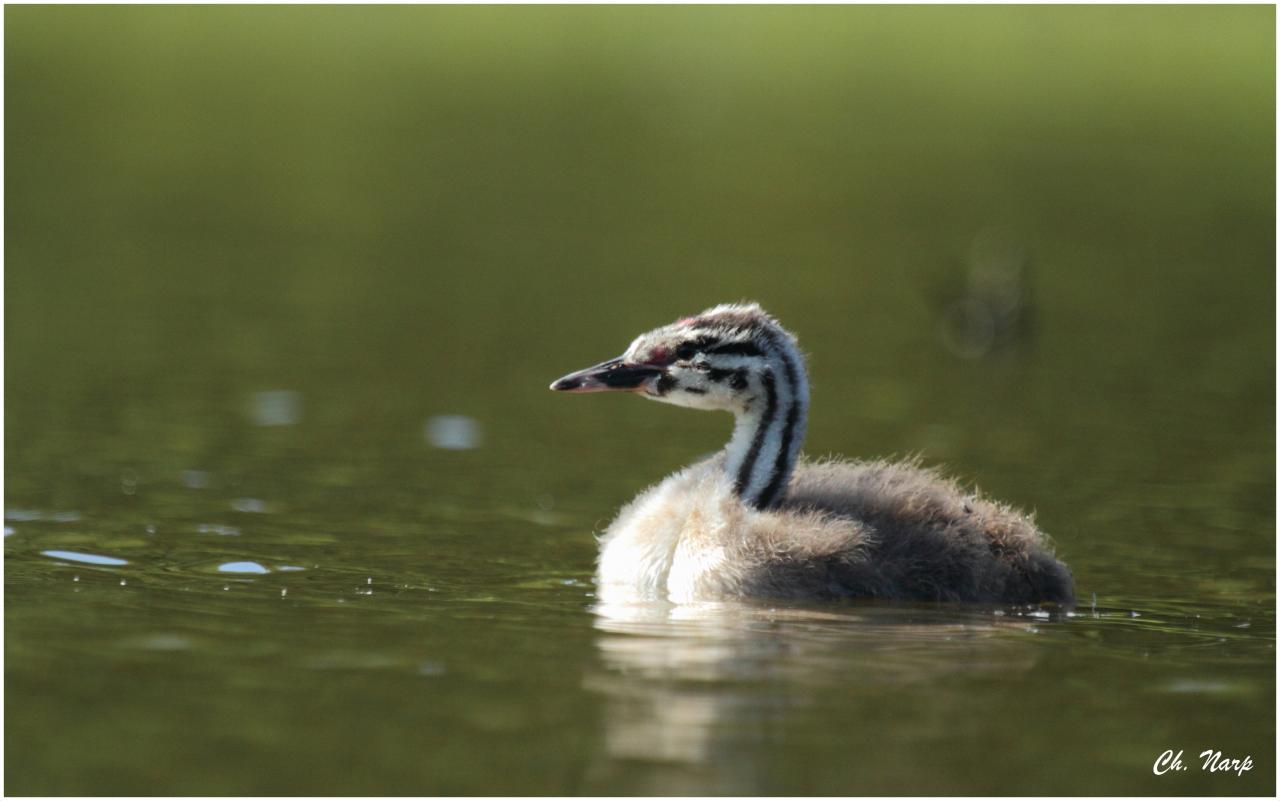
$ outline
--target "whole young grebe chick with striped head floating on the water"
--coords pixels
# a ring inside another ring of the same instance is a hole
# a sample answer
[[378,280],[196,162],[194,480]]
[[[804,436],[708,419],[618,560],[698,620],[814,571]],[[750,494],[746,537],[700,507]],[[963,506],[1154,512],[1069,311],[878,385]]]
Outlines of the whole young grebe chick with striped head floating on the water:
[[640,334],[622,356],[550,389],[735,416],[723,450],[641,491],[598,537],[605,601],[1074,601],[1070,569],[1029,516],[919,457],[801,457],[805,358],[759,303],[722,303]]

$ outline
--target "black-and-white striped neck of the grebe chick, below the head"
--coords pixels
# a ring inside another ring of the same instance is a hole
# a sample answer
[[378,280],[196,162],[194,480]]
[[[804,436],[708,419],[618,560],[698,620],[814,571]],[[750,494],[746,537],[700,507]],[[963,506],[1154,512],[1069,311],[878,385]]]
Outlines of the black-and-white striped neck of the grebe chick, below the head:
[[804,360],[790,342],[778,342],[753,384],[758,392],[737,412],[724,470],[742,503],[767,509],[786,495],[804,443],[809,418]]

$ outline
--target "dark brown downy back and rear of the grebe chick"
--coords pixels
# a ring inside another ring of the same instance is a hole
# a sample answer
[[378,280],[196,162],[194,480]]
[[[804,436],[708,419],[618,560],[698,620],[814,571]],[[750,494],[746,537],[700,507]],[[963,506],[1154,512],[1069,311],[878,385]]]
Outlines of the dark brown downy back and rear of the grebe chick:
[[[1071,603],[1073,581],[1029,517],[914,462],[808,462],[768,514],[842,536],[788,537],[758,563],[760,594]],[[817,592],[815,592],[817,591]]]

